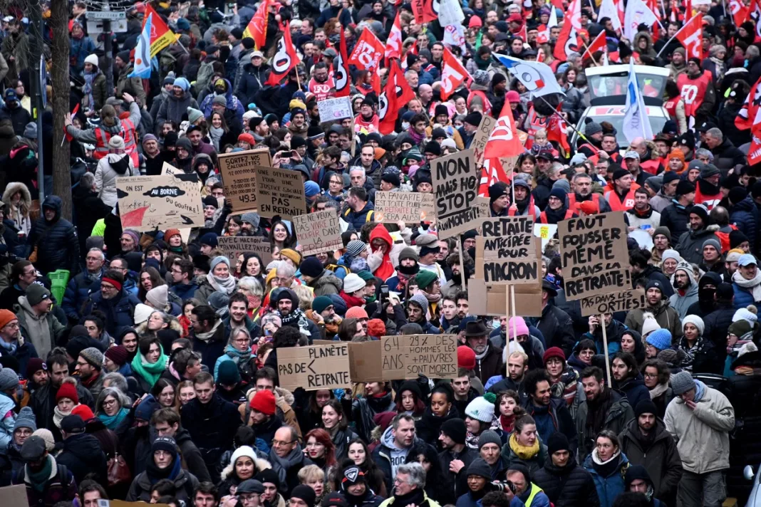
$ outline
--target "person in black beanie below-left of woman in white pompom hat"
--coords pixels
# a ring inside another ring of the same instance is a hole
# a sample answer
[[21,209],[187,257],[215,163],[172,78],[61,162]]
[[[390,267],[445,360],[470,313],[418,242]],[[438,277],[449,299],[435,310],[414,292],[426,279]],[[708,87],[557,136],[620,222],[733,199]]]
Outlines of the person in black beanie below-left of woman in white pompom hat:
[[[462,419],[454,418],[441,423],[438,443],[442,451],[438,453],[441,470],[447,479],[447,486],[455,498],[467,491],[467,470],[479,457],[475,448],[465,443],[467,430]],[[489,474],[489,478],[491,474]]]

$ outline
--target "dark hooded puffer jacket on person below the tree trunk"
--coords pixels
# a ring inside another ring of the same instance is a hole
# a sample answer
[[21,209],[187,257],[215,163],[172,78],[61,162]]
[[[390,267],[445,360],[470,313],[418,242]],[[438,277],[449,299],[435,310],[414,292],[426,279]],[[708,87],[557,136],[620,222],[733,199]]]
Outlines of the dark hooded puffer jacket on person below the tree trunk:
[[[37,269],[43,274],[67,269],[70,276],[79,271],[79,240],[74,225],[61,217],[63,201],[57,195],[48,195],[43,201],[43,212],[34,223],[27,239],[27,256],[37,246]],[[53,220],[45,218],[44,210],[56,211]]]

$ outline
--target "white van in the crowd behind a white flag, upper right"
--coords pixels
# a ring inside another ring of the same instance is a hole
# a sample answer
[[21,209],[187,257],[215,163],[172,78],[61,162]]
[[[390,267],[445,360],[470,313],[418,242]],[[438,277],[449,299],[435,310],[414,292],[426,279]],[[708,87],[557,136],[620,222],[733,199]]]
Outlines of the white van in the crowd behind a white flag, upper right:
[[[663,106],[663,94],[669,71],[650,65],[635,65],[637,83],[645,101],[645,114],[654,133],[661,132],[669,113]],[[587,76],[590,106],[584,110],[576,129],[584,132],[587,118],[595,122],[609,122],[616,128],[616,140],[622,151],[629,146],[623,135],[623,116],[626,108],[626,84],[629,81],[629,65],[607,65],[590,67],[584,71]],[[571,144],[576,146],[578,134],[571,132]]]

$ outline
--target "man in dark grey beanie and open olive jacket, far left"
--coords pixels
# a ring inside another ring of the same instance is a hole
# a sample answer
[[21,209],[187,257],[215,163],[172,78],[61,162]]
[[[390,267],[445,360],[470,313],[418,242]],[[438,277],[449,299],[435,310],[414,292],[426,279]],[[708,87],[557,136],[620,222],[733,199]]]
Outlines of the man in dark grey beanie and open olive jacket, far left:
[[[16,324],[19,326],[17,331],[20,331],[20,339],[26,337],[30,341],[37,352],[35,356],[47,356],[50,350],[53,350],[53,347],[62,339],[65,330],[64,326],[51,313],[53,299],[51,299],[50,291],[43,284],[31,284],[27,287],[26,295],[19,296],[18,305],[14,309],[16,310],[14,319],[7,320],[6,324],[11,324],[11,328],[13,328],[12,320],[16,320]],[[6,318],[10,317],[8,314],[5,315]],[[11,328],[8,328],[7,331],[11,331]],[[18,332],[17,335],[19,335]],[[3,341],[5,342],[5,339]],[[12,346],[5,348],[11,349]]]

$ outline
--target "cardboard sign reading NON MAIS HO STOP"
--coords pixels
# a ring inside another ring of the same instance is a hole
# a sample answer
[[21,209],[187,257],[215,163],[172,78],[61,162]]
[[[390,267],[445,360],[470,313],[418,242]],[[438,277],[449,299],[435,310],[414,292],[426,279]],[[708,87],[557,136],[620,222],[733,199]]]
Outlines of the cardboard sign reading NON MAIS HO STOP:
[[480,173],[473,150],[431,162],[438,239],[457,236],[479,225],[479,211],[473,203],[478,195]]

